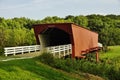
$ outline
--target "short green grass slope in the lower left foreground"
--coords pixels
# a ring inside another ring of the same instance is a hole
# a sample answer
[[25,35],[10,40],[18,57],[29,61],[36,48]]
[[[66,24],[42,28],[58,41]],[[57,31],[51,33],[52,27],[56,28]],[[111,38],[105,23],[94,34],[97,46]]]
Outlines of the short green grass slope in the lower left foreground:
[[54,69],[36,59],[24,59],[0,62],[0,80],[84,80],[84,78]]

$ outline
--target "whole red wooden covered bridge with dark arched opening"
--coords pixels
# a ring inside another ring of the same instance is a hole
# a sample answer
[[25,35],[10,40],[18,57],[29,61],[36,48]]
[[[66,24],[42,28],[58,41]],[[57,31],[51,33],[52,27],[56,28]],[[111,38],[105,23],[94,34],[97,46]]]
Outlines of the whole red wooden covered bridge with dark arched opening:
[[73,23],[34,25],[37,43],[44,47],[71,44],[72,57],[82,58],[84,54],[96,51],[98,61],[98,34]]

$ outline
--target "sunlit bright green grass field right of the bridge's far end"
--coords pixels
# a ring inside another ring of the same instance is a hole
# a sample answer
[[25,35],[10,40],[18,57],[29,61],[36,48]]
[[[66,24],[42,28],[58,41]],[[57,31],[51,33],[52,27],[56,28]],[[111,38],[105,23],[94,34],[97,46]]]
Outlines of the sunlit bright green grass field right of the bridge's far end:
[[100,54],[100,59],[120,71],[120,46],[109,46],[106,53]]

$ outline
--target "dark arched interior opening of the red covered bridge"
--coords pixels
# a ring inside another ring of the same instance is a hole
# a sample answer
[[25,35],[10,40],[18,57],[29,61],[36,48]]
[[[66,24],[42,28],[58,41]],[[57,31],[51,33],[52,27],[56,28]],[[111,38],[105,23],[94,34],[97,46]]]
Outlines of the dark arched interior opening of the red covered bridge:
[[70,35],[57,28],[47,28],[39,36],[40,43],[44,47],[70,44]]

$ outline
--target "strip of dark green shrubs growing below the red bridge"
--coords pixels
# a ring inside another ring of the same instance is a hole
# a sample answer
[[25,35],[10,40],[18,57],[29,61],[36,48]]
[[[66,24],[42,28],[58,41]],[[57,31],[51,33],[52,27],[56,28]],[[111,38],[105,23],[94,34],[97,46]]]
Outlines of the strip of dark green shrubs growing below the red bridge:
[[[76,60],[71,58],[58,59],[54,58],[50,53],[43,53],[39,57],[40,61],[54,68],[61,69],[67,72],[86,72],[104,77],[110,80],[120,80],[120,68],[116,69],[116,63],[101,63],[91,62],[86,59]],[[115,62],[115,61],[114,61]],[[117,61],[119,62],[119,61]]]

